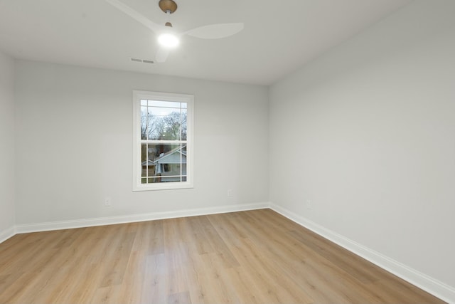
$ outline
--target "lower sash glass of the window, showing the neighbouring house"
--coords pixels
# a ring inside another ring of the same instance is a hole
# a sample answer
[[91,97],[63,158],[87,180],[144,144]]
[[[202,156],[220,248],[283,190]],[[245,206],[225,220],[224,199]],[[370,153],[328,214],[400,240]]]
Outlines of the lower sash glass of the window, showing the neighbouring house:
[[186,145],[141,145],[142,184],[186,180]]

